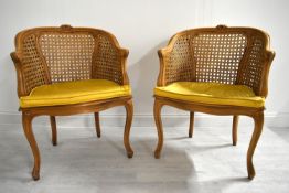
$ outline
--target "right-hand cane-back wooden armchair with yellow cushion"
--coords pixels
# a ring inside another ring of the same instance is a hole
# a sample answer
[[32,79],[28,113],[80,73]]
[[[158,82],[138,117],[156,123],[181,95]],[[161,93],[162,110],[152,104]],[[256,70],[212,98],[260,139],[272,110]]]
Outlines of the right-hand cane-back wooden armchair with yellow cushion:
[[233,144],[237,143],[238,116],[249,116],[255,128],[247,151],[248,178],[255,176],[253,154],[261,135],[268,74],[275,53],[269,35],[251,28],[202,28],[175,34],[161,49],[160,73],[154,88],[154,120],[160,158],[163,144],[161,108],[190,111],[189,137],[194,111],[233,116]]

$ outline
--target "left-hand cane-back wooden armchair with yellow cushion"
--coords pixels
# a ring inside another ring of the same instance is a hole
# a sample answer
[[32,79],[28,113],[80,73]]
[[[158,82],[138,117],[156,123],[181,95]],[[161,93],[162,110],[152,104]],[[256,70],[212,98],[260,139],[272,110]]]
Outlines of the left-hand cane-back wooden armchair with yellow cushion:
[[100,137],[99,111],[125,106],[124,143],[129,158],[132,100],[126,73],[128,50],[103,30],[89,28],[35,28],[15,36],[11,53],[18,75],[18,95],[25,137],[34,157],[32,176],[40,178],[40,152],[32,119],[50,116],[52,143],[56,146],[55,116],[94,112]]

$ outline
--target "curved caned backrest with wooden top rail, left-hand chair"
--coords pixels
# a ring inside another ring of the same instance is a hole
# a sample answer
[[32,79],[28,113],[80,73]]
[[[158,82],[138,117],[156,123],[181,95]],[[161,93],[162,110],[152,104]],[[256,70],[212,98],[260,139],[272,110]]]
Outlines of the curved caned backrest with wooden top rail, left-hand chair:
[[15,37],[23,94],[34,87],[90,78],[122,83],[121,53],[114,35],[88,28],[35,28]]

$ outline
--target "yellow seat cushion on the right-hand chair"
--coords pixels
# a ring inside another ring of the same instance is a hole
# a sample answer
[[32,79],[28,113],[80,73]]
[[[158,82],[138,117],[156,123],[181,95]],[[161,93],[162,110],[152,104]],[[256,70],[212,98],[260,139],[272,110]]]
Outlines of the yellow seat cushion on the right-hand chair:
[[245,85],[220,83],[176,82],[164,87],[156,87],[154,95],[213,105],[264,107],[265,98],[256,96]]

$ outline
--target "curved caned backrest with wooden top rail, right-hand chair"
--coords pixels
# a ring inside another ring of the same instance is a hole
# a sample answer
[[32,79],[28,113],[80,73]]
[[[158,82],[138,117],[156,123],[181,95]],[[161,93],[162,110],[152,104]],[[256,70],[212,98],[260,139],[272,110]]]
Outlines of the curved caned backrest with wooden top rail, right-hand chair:
[[[165,84],[215,82],[243,84],[261,93],[261,79],[274,53],[269,36],[251,28],[193,29],[174,35],[163,54]],[[163,51],[164,52],[164,51]]]

